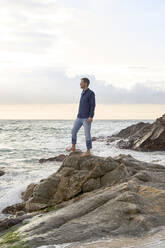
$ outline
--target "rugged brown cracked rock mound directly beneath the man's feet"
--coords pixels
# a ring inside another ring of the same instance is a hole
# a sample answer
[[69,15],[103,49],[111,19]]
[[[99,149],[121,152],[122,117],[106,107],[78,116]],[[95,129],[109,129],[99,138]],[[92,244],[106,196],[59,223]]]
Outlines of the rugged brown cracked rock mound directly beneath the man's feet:
[[[71,199],[78,194],[112,185],[115,181],[125,179],[125,168],[111,157],[98,156],[80,157],[71,153],[58,171],[37,184],[32,193],[25,201],[26,211],[39,210],[41,208],[59,204]],[[75,154],[80,154],[75,152]],[[112,173],[108,173],[116,168]],[[123,178],[121,177],[123,175]],[[115,178],[113,178],[115,176]],[[127,176],[127,175],[125,175]],[[102,177],[102,178],[101,178]],[[110,178],[112,180],[110,181]],[[28,195],[29,187],[23,193]]]

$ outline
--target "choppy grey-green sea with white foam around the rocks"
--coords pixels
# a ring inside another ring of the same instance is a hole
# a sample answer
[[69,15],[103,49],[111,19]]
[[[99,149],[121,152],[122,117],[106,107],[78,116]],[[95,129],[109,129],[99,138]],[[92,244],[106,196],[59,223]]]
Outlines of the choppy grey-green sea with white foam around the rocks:
[[[96,120],[91,123],[92,137],[107,137],[121,129],[140,121],[153,123],[155,120]],[[66,147],[71,146],[73,120],[0,120],[0,219],[5,207],[21,202],[21,192],[30,183],[56,172],[62,162],[39,163],[41,158],[68,154]],[[77,149],[86,150],[83,126],[77,133]],[[91,154],[98,156],[117,156],[131,154],[134,158],[162,164],[165,166],[165,152],[139,152],[119,149],[116,143],[93,141]],[[64,247],[64,246],[54,246]]]

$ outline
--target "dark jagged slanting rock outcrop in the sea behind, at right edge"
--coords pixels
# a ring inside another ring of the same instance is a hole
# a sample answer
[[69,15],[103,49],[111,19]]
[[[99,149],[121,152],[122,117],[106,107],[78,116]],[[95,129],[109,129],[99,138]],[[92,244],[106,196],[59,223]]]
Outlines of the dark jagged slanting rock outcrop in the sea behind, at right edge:
[[107,143],[120,139],[117,145],[138,151],[165,151],[165,114],[153,123],[139,122],[107,137]]

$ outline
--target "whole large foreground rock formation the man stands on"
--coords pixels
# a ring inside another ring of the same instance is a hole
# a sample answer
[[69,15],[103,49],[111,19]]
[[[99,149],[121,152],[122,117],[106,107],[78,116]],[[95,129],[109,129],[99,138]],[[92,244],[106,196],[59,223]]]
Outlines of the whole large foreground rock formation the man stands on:
[[71,152],[58,171],[22,194],[24,210],[54,210],[19,228],[30,247],[141,236],[165,225],[165,167],[131,155]]

